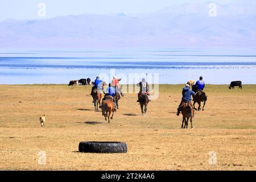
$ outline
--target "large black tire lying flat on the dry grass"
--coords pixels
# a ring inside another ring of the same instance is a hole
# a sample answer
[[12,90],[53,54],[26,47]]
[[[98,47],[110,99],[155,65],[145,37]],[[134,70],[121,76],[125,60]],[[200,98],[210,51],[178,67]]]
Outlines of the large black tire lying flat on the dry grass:
[[80,142],[79,152],[126,153],[127,146],[123,142]]

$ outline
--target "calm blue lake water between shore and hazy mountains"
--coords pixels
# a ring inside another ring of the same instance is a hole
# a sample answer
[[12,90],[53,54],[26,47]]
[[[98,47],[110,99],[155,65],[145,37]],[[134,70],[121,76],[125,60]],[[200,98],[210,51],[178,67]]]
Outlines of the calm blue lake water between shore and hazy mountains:
[[256,84],[256,49],[0,50],[0,84],[68,84],[97,75],[121,84],[141,77],[180,84],[203,76],[207,84]]

